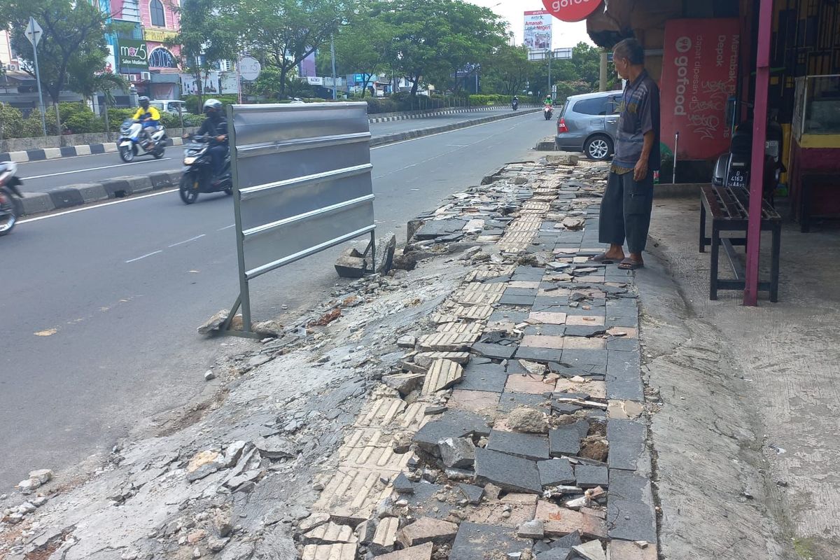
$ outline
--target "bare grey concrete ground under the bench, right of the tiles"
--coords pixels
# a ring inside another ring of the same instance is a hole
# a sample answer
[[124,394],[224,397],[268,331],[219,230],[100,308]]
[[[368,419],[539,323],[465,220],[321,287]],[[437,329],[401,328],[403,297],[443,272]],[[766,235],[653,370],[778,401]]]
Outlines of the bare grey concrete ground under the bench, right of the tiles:
[[699,200],[654,206],[637,284],[664,557],[835,560],[840,230],[787,224],[780,302],[749,308],[740,292],[708,300]]

